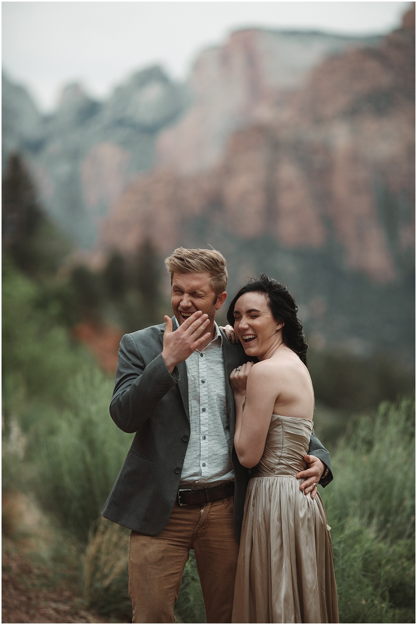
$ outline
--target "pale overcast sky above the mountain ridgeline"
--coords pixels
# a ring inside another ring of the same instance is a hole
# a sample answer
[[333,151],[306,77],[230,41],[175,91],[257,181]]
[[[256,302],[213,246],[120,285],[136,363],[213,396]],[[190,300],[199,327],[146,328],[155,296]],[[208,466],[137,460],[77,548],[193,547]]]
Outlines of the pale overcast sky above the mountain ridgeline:
[[409,2],[2,2],[2,66],[54,108],[62,86],[80,82],[96,98],[133,71],[159,63],[187,76],[204,47],[248,26],[385,33]]

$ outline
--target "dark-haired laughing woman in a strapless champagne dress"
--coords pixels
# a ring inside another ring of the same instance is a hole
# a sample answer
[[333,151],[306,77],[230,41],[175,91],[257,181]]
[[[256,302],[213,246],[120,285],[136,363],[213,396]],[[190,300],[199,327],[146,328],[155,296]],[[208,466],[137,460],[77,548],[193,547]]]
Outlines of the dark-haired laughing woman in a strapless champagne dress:
[[232,622],[338,622],[330,527],[317,494],[295,475],[306,468],[314,392],[297,305],[263,274],[242,287],[227,319],[247,362],[230,375],[235,449],[251,467]]

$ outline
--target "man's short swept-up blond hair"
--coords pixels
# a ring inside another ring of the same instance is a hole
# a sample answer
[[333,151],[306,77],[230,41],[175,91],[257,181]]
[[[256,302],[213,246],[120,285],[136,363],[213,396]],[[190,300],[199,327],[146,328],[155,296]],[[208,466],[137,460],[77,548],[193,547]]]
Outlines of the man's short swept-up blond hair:
[[226,290],[227,269],[226,259],[217,249],[186,249],[177,247],[171,256],[165,258],[165,267],[171,276],[178,273],[200,273],[210,274],[210,284],[216,296]]

